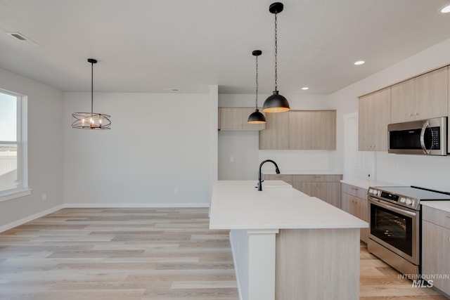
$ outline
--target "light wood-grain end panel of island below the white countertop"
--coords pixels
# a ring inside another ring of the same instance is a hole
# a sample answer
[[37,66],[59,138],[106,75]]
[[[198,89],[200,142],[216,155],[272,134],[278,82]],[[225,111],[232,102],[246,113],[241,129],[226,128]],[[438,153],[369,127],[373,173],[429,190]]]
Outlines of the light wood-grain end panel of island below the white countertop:
[[275,294],[277,300],[358,300],[359,228],[280,230]]

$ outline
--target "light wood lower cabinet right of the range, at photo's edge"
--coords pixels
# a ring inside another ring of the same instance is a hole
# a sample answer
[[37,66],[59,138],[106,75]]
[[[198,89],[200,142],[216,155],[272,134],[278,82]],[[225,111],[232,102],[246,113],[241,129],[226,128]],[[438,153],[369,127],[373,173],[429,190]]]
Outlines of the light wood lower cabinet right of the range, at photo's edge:
[[422,220],[422,274],[450,295],[450,212],[423,207]]

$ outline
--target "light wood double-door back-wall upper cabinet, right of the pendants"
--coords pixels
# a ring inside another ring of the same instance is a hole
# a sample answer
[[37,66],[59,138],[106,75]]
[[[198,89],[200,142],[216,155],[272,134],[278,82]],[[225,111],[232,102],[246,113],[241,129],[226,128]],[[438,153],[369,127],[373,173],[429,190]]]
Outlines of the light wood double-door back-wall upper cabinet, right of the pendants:
[[289,149],[336,150],[336,111],[290,112]]

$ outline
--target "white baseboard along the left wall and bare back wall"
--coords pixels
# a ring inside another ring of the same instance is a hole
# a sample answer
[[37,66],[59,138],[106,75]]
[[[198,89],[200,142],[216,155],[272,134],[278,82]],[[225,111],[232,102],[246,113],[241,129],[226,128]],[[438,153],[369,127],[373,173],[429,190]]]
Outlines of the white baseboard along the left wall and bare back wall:
[[4,226],[0,226],[0,233],[9,230],[11,228],[20,226],[27,222],[33,221],[34,219],[41,218],[42,216],[46,216],[47,214],[51,214],[55,211],[64,208],[176,208],[176,207],[210,207],[209,203],[72,203],[72,204],[60,204],[56,207],[52,207],[51,209],[46,209],[37,214],[33,214],[32,216],[27,216],[18,221],[14,221],[8,223]]

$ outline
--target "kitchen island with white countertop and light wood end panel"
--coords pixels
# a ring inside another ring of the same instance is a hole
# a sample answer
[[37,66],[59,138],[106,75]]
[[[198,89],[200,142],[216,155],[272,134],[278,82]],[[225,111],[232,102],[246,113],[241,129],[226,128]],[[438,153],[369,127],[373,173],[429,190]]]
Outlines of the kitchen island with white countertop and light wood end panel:
[[230,230],[241,300],[359,299],[368,223],[283,181],[217,181],[210,228]]

